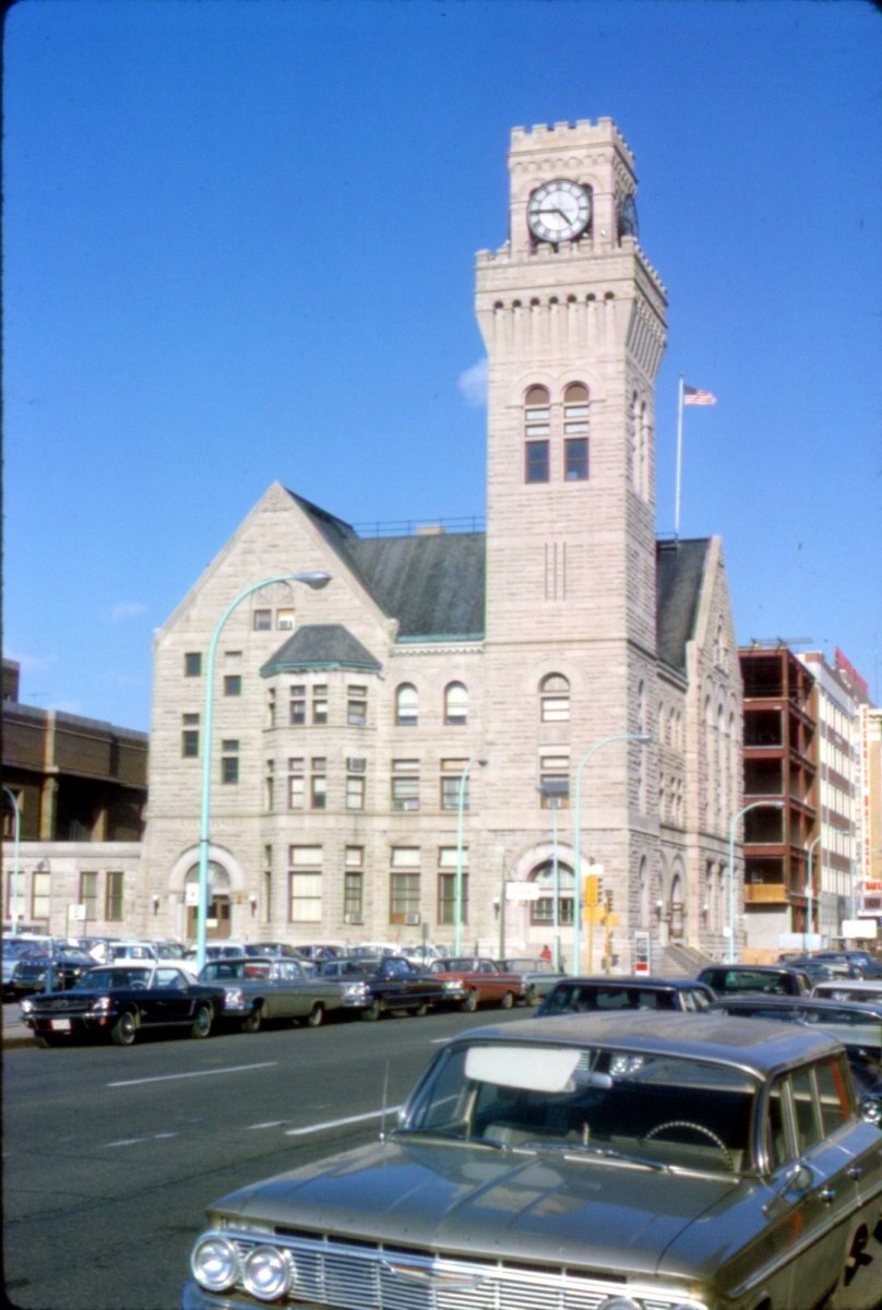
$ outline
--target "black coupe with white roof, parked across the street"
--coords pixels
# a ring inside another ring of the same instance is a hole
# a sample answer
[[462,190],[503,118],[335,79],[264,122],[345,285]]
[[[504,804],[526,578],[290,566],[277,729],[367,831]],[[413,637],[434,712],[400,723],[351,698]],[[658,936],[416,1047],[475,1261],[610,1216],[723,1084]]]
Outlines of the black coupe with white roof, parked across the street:
[[223,1014],[224,989],[198,982],[180,964],[132,960],[97,964],[68,992],[46,992],[21,1002],[21,1018],[41,1047],[77,1036],[110,1038],[130,1047],[139,1032],[186,1028],[207,1038]]

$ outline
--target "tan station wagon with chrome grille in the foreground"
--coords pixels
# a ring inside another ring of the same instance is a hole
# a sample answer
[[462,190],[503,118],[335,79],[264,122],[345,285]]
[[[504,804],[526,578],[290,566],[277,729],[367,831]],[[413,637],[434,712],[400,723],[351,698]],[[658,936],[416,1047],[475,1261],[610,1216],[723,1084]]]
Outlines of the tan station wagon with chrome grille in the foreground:
[[526,1019],[446,1043],[377,1142],[215,1203],[181,1305],[868,1310],[881,1201],[834,1039]]

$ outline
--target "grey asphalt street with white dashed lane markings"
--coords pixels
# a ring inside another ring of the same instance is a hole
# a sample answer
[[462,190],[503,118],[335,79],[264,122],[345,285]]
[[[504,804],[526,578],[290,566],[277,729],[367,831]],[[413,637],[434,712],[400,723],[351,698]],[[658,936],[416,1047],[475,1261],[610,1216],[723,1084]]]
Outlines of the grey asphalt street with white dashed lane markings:
[[[16,1011],[4,1006],[4,1038]],[[396,1106],[438,1043],[529,1014],[280,1027],[130,1049],[4,1041],[8,1298],[21,1310],[173,1310],[206,1204],[367,1141],[384,1096]]]

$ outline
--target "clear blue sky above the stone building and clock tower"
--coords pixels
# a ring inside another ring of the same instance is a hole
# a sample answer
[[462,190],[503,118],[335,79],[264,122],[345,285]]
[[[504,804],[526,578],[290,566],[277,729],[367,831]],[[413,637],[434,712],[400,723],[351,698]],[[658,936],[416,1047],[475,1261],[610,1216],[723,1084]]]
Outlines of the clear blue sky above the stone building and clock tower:
[[277,478],[482,516],[474,252],[514,126],[619,124],[670,293],[658,529],[738,638],[882,697],[882,17],[857,0],[21,0],[5,24],[4,654],[145,730],[152,631]]

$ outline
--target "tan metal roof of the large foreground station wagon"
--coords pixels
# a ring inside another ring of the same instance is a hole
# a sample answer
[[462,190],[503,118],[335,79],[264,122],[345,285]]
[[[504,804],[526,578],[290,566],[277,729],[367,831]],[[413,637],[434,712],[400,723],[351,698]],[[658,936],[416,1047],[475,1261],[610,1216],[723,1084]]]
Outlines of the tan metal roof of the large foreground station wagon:
[[806,1058],[843,1049],[827,1034],[776,1019],[739,1019],[727,1014],[628,1010],[616,1014],[564,1014],[520,1019],[499,1027],[470,1028],[453,1041],[524,1041],[536,1045],[615,1044],[617,1051],[681,1056],[739,1068],[768,1077]]

